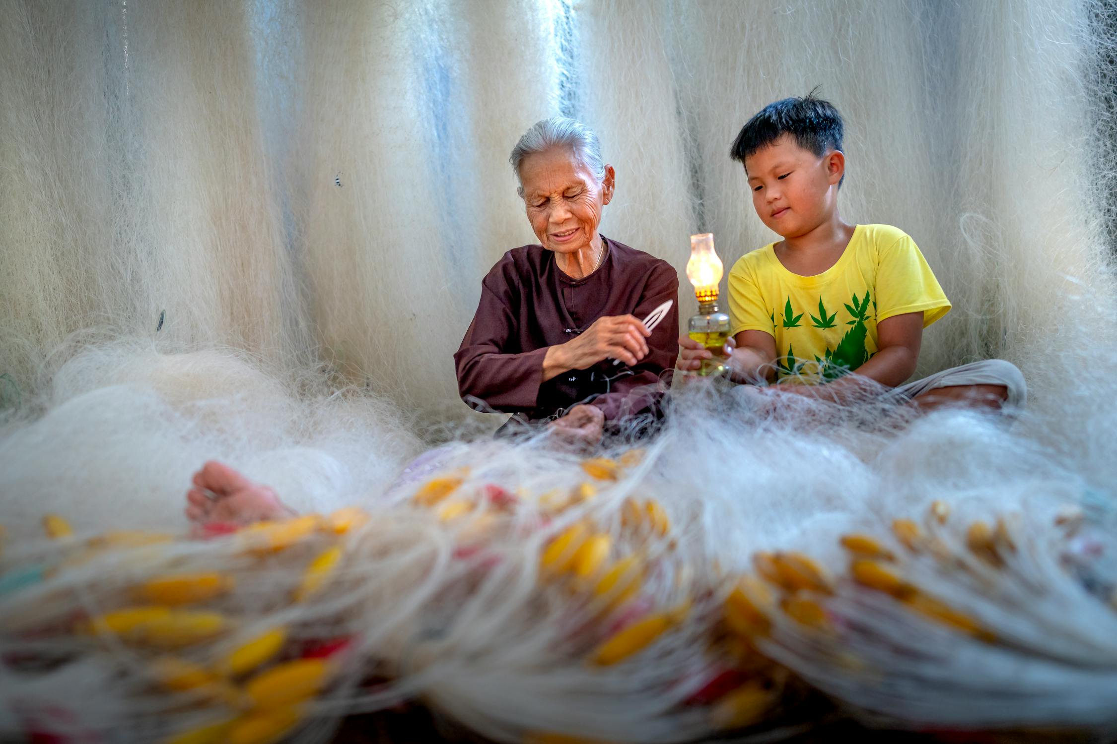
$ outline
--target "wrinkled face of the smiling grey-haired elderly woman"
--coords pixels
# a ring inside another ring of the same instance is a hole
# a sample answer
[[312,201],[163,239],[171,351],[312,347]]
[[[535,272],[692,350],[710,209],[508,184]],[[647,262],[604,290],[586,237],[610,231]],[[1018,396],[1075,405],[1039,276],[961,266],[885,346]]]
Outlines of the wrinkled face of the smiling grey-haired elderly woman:
[[613,197],[613,166],[598,183],[573,151],[553,147],[519,164],[524,204],[543,248],[556,253],[589,249],[598,240],[601,207]]

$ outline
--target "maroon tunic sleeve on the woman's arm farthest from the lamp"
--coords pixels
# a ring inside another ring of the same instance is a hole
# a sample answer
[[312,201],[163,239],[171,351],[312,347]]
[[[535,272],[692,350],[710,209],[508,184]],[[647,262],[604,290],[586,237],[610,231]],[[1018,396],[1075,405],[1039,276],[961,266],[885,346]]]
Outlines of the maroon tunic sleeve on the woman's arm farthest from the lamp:
[[[543,383],[546,347],[515,352],[515,290],[500,267],[481,282],[481,299],[461,347],[454,355],[458,393],[469,407],[491,413],[535,408]],[[513,351],[513,352],[508,352]]]

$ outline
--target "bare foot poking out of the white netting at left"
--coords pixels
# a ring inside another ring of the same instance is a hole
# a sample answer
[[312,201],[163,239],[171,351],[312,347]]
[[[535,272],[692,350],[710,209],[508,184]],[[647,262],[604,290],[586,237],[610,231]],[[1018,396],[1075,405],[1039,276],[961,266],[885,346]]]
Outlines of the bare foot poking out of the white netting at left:
[[194,473],[193,483],[194,487],[187,492],[187,516],[195,528],[211,523],[241,525],[295,515],[275,491],[252,483],[219,462],[202,465]]

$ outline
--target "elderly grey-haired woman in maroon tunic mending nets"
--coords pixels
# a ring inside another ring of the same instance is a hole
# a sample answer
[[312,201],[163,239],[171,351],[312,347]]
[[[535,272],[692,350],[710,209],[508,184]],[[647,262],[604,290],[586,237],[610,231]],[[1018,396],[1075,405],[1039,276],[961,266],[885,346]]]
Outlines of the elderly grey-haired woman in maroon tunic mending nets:
[[[590,442],[626,418],[651,419],[678,352],[675,269],[598,232],[615,174],[588,127],[540,122],[510,161],[540,242],[505,253],[481,281],[454,355],[461,398],[514,414],[502,431],[547,421]],[[649,332],[641,319],[667,300],[668,317]]]

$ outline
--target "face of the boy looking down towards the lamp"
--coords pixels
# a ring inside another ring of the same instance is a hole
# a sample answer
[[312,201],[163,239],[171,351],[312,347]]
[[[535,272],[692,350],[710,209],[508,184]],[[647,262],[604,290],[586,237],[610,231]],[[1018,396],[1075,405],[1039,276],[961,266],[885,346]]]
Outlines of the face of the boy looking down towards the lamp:
[[804,235],[833,210],[846,158],[838,151],[815,155],[791,135],[745,158],[753,206],[761,221],[784,238]]

